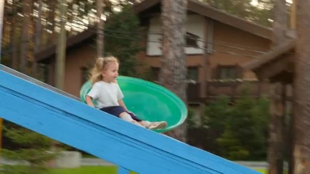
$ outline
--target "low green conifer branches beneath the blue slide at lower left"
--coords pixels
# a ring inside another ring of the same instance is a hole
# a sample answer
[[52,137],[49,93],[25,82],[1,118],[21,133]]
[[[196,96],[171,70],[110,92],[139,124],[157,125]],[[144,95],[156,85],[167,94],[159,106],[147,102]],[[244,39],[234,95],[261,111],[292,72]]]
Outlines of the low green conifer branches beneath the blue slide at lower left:
[[54,159],[57,153],[50,153],[52,140],[31,130],[12,127],[4,128],[4,134],[19,147],[16,150],[3,149],[3,156],[6,159],[28,162],[29,166],[5,165],[6,173],[44,173],[47,171],[45,164]]

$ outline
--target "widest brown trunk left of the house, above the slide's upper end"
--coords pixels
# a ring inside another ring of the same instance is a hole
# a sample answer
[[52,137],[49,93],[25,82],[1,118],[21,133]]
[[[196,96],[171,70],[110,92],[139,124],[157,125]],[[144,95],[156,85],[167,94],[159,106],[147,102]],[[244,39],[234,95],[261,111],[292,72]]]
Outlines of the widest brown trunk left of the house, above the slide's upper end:
[[31,0],[26,0],[22,11],[23,11],[23,27],[21,35],[21,48],[20,48],[20,72],[27,73],[28,66],[28,48],[29,48],[29,25],[31,15]]

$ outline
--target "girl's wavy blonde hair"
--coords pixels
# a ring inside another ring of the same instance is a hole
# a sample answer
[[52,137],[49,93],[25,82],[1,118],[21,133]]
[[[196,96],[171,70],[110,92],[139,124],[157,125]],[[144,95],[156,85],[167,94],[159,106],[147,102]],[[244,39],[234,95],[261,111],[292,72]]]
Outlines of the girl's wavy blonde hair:
[[116,62],[118,63],[118,60],[116,57],[109,56],[109,57],[99,57],[96,60],[96,63],[93,67],[93,69],[90,72],[89,80],[91,84],[94,84],[100,80],[102,80],[102,71],[104,71],[107,68],[107,65],[110,62]]

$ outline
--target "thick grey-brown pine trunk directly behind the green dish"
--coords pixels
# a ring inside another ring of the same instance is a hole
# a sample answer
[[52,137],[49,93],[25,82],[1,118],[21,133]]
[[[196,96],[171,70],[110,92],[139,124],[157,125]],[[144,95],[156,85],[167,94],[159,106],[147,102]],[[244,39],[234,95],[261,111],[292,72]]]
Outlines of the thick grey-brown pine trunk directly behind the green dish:
[[[185,34],[187,0],[162,0],[162,70],[160,84],[187,103]],[[186,123],[167,132],[168,136],[186,142]]]

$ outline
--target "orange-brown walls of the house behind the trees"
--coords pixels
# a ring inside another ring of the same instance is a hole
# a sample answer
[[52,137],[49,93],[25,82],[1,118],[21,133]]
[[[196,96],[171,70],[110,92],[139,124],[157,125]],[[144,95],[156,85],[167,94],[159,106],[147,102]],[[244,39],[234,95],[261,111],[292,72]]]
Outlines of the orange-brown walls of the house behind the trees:
[[[205,20],[210,20],[205,18]],[[249,49],[256,50],[266,50],[270,48],[270,41],[253,34],[244,32],[237,28],[231,27],[229,25],[214,21],[214,42],[227,43],[229,45],[235,45],[236,47],[252,47]],[[145,36],[146,38],[146,36]],[[145,39],[144,38],[144,39]],[[145,46],[145,42],[141,42],[142,46]],[[212,82],[215,76],[215,69],[219,65],[241,65],[247,61],[255,59],[253,57],[247,57],[243,55],[233,55],[229,53],[223,53],[219,51],[234,52],[237,54],[246,54],[246,55],[258,55],[259,53],[254,53],[251,51],[238,50],[234,48],[228,48],[221,45],[213,45],[215,50],[212,54],[206,58],[205,54],[195,54],[188,55],[186,58],[187,66],[196,66],[198,67],[198,81],[196,84],[189,84],[188,94],[190,101],[196,101],[200,97],[211,97],[218,96],[220,94],[238,96],[238,89],[241,84],[239,83],[218,83]],[[67,59],[65,66],[65,87],[64,91],[70,93],[74,96],[79,97],[80,89],[83,83],[82,71],[83,67],[92,67],[94,64],[96,56],[96,50],[94,44],[89,42],[82,43],[78,46],[75,46],[74,49],[67,50]],[[203,69],[205,66],[204,59],[207,59],[206,70]],[[142,51],[138,55],[138,60],[140,63],[146,65],[146,67],[160,67],[160,57],[159,56],[147,56],[145,51]],[[145,68],[145,67],[141,67]],[[203,73],[206,72],[206,75]],[[255,74],[251,71],[239,71],[240,78],[243,79],[256,79]],[[51,62],[49,67],[49,84],[54,84],[54,63]],[[208,82],[207,82],[208,81]],[[206,85],[203,85],[206,83]],[[251,82],[256,83],[256,82]],[[205,88],[201,87],[205,86]],[[237,86],[237,87],[236,87]],[[259,94],[256,91],[253,92],[253,95]],[[206,96],[202,96],[205,94]]]

